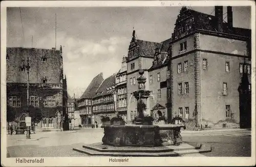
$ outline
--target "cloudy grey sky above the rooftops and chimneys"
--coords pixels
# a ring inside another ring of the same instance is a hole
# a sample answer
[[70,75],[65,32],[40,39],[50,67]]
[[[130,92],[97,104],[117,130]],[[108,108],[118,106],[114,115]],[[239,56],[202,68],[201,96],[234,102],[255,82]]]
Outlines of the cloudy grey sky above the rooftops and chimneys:
[[[214,15],[214,7],[192,7]],[[68,93],[79,98],[94,76],[117,73],[132,38],[161,42],[171,37],[181,7],[22,7],[7,9],[7,47],[63,46]],[[233,26],[250,29],[250,7],[233,7]],[[226,7],[223,9],[226,13]],[[226,14],[224,14],[224,17]],[[226,20],[227,18],[225,18]],[[24,42],[23,42],[24,41]]]

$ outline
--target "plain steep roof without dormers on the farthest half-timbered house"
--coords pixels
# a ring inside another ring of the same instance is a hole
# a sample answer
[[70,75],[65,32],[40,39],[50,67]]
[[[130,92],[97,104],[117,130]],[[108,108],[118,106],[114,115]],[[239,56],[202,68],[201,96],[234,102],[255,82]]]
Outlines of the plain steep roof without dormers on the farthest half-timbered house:
[[97,76],[93,78],[93,80],[90,82],[89,86],[87,87],[86,91],[83,92],[80,99],[83,98],[93,98],[95,96],[95,93],[97,89],[99,88],[101,82],[103,81],[103,74],[100,73]]

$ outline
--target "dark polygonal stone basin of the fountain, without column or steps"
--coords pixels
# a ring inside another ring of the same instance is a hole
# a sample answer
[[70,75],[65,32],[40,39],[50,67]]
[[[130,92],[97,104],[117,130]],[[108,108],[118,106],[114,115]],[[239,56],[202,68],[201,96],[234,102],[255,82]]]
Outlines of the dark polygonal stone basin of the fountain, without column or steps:
[[[111,146],[161,146],[163,140],[169,141],[169,144],[179,145],[182,143],[180,128],[184,125],[102,125],[104,136],[102,142],[104,145]],[[160,135],[162,131],[168,131],[169,135]],[[162,137],[161,137],[162,136]],[[178,140],[177,140],[178,139]]]

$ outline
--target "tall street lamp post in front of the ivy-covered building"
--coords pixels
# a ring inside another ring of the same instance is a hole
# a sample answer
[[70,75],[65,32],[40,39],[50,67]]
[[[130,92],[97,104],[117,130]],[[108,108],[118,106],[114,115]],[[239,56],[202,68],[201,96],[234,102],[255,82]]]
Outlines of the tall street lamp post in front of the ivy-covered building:
[[[22,63],[22,68],[27,70],[27,117],[29,117],[29,57],[27,56],[27,65],[24,65],[24,63]],[[26,123],[27,124],[27,123]],[[27,126],[27,134],[26,134],[26,138],[30,139],[30,126]]]

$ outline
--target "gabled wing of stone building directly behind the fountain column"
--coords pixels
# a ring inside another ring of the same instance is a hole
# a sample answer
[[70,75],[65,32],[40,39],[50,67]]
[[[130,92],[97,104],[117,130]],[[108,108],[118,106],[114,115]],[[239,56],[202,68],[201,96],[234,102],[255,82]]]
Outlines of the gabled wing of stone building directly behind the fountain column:
[[[150,90],[148,69],[152,66],[154,60],[155,49],[160,47],[160,43],[149,42],[136,39],[135,31],[133,31],[133,37],[130,42],[128,51],[127,63],[127,119],[132,122],[137,117],[137,101],[133,96],[133,92],[138,90],[137,77],[139,76],[139,70],[144,70],[144,76],[146,77],[145,89]],[[150,106],[150,100],[147,99],[147,107]],[[147,115],[151,115],[151,109],[146,109]]]

